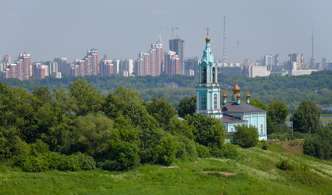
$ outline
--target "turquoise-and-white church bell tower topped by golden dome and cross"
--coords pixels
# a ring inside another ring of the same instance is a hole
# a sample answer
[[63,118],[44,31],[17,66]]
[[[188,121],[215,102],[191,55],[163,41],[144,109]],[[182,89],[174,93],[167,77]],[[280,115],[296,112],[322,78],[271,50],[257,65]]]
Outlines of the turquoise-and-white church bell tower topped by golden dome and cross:
[[207,38],[202,60],[199,62],[199,83],[196,88],[196,113],[202,113],[214,118],[221,118],[220,86],[217,81],[217,63],[210,49],[210,38]]

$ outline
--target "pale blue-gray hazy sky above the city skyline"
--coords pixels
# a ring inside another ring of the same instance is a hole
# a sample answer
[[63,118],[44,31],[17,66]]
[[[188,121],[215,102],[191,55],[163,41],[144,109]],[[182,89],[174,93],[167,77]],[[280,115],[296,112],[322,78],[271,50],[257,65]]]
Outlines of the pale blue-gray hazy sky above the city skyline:
[[[66,57],[82,59],[97,49],[99,59],[136,59],[147,52],[159,34],[168,49],[171,29],[185,40],[185,55],[202,57],[207,27],[214,58],[223,54],[223,16],[226,17],[228,62],[261,59],[279,53],[311,57],[313,23],[314,57],[332,62],[332,1],[192,1],[192,0],[0,0],[2,28],[0,58],[13,61],[28,52],[31,61]],[[237,42],[239,41],[239,46]],[[238,52],[239,51],[239,52]]]

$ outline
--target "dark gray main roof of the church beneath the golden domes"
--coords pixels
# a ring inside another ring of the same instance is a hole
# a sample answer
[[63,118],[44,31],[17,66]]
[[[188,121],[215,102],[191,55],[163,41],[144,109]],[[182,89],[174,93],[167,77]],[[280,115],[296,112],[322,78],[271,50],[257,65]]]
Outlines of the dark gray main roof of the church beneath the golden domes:
[[[227,110],[224,110],[224,107],[226,107]],[[227,113],[227,112],[241,112],[241,113],[266,112],[266,110],[262,110],[260,108],[257,108],[255,106],[252,106],[252,105],[247,104],[242,101],[240,102],[240,104],[236,104],[236,101],[227,102],[226,104],[221,105],[221,109],[224,113]]]

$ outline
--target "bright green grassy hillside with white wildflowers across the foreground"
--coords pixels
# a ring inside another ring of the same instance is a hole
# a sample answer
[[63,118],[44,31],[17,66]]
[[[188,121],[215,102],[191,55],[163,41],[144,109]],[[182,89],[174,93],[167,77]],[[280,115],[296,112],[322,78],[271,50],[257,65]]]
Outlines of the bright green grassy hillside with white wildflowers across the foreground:
[[[26,173],[9,162],[0,165],[0,194],[331,194],[332,161],[269,150],[237,148],[238,160],[204,158],[170,167],[141,165],[129,172],[102,170]],[[285,142],[283,143],[285,144]],[[287,142],[286,142],[287,144]],[[284,151],[286,151],[284,149]],[[281,159],[306,164],[309,171],[283,171]],[[222,174],[202,172],[229,172]]]

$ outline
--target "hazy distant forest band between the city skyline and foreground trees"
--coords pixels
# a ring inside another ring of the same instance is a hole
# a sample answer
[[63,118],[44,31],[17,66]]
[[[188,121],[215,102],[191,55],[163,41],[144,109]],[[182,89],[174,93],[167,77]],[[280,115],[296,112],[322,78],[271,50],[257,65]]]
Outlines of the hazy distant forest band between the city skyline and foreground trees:
[[[158,98],[165,99],[177,106],[184,97],[191,97],[195,94],[195,86],[198,82],[198,76],[184,76],[161,74],[160,76],[135,76],[135,77],[84,77],[92,87],[101,90],[102,94],[108,94],[114,91],[120,85],[128,88],[134,88],[141,93],[145,101],[150,101],[154,95]],[[75,77],[65,76],[61,79],[46,77],[44,79],[30,79],[20,81],[15,78],[0,79],[2,84],[11,86],[19,86],[27,91],[33,91],[34,88],[48,86],[52,92],[53,87],[68,88],[69,82],[73,82]],[[164,83],[176,82],[179,88],[168,88]],[[234,86],[234,77],[224,74],[218,74],[218,82],[220,85]],[[269,76],[269,77],[239,77],[238,85],[242,92],[249,87],[251,98],[256,98],[265,104],[270,99],[279,99],[286,102],[291,112],[300,104],[303,99],[310,99],[316,104],[331,105],[332,104],[332,70],[322,70],[314,72],[311,75],[300,76]],[[226,89],[226,95],[231,96],[231,89]],[[244,95],[242,95],[244,98]]]

